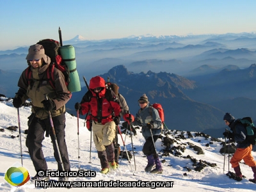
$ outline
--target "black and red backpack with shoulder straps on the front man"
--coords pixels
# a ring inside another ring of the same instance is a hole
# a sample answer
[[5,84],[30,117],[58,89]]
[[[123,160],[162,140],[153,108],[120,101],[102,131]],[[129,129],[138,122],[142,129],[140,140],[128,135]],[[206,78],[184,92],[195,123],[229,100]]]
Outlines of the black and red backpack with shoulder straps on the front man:
[[[40,40],[37,42],[37,44],[43,45],[45,54],[51,58],[51,64],[47,68],[47,81],[49,81],[49,84],[51,84],[52,88],[55,89],[54,67],[56,67],[63,73],[65,77],[65,84],[68,86],[68,83],[70,83],[69,72],[60,55],[60,42],[47,38]],[[32,72],[30,66],[26,68],[26,77],[28,79],[28,83],[30,84],[32,81]]]

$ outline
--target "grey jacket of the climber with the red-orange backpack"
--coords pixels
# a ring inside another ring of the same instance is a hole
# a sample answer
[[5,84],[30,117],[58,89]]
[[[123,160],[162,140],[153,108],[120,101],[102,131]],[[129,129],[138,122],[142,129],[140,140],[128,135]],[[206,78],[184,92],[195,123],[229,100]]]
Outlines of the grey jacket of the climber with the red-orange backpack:
[[[152,116],[150,115],[150,108],[152,108]],[[138,125],[142,127],[142,135],[147,140],[148,137],[151,137],[150,129],[148,129],[147,124],[152,123],[154,125],[154,129],[152,129],[152,134],[159,135],[161,134],[162,121],[157,112],[157,110],[149,104],[144,109],[139,109],[138,113],[136,113],[136,117],[132,125]]]

